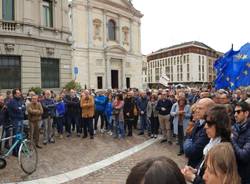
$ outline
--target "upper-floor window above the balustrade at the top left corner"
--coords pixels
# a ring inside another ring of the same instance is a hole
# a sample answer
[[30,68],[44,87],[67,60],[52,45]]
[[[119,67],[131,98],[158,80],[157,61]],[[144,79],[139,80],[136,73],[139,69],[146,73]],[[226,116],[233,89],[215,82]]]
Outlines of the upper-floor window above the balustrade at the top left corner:
[[3,20],[13,21],[15,17],[14,0],[3,0],[2,3]]

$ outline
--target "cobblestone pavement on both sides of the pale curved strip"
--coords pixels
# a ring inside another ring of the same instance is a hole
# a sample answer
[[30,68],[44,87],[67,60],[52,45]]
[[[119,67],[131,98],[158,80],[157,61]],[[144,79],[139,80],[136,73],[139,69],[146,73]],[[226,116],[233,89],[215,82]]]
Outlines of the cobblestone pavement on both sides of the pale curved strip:
[[[125,140],[113,139],[109,135],[103,134],[98,134],[94,140],[82,139],[76,136],[63,139],[57,138],[55,144],[48,144],[43,146],[43,149],[38,150],[38,168],[30,176],[23,173],[15,157],[9,158],[7,167],[0,170],[0,183],[28,181],[62,174],[106,159],[148,139],[148,137],[135,134]],[[176,152],[176,145],[169,146],[156,142],[124,160],[68,183],[125,183],[130,169],[137,162],[151,156],[168,156],[182,167],[186,162],[185,158],[176,156]]]

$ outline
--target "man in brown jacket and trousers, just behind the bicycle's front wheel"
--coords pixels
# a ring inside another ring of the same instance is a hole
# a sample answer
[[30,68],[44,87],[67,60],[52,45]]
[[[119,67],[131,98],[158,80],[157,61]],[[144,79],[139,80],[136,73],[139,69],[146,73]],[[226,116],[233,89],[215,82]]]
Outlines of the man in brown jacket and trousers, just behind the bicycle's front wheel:
[[31,95],[31,102],[27,106],[28,119],[30,126],[30,139],[34,141],[37,148],[42,148],[39,146],[39,125],[38,122],[42,118],[43,108],[38,102],[38,96],[35,94]]

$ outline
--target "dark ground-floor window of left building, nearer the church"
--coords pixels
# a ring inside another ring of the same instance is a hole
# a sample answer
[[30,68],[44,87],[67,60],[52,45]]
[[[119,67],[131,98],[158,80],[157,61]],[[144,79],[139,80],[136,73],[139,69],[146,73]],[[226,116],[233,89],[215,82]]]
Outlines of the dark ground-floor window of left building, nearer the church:
[[41,59],[42,88],[59,88],[59,59]]

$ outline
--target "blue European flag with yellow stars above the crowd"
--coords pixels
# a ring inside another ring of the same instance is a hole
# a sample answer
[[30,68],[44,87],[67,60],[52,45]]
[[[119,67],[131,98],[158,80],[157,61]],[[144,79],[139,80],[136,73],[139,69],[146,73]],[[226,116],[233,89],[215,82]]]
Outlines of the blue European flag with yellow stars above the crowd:
[[243,45],[239,51],[231,49],[215,61],[217,72],[216,89],[231,90],[250,84],[250,44]]

